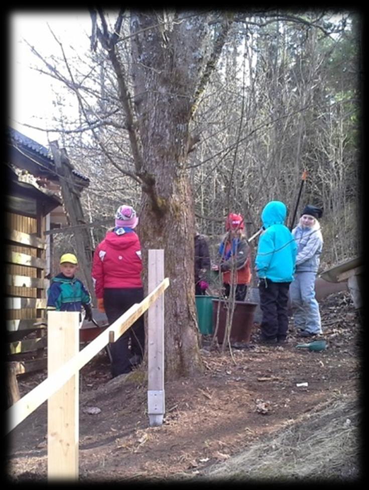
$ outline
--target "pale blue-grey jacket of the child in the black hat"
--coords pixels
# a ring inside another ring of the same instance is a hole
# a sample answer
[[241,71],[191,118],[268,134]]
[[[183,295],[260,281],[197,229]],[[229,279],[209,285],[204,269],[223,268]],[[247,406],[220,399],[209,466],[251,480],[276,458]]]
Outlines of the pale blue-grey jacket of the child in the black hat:
[[303,228],[300,224],[292,230],[297,245],[295,272],[318,272],[323,237],[318,220],[312,228]]

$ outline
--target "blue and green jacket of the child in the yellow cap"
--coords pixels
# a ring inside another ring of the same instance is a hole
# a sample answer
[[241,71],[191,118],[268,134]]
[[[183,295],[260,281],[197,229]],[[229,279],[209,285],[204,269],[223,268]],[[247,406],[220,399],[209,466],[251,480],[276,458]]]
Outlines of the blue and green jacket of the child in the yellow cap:
[[82,281],[62,273],[51,279],[47,294],[47,309],[58,311],[81,311],[82,304],[88,304],[91,300]]

